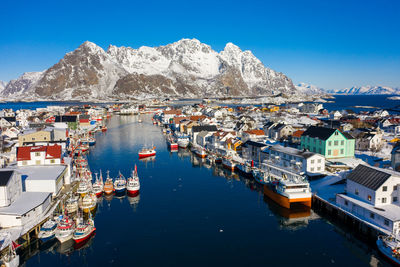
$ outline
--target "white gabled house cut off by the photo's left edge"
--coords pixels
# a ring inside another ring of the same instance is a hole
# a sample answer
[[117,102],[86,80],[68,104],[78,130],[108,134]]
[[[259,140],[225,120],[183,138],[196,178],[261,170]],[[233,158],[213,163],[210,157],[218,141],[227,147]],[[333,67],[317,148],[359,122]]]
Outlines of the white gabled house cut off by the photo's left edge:
[[22,193],[21,175],[14,170],[0,170],[0,207],[11,205]]

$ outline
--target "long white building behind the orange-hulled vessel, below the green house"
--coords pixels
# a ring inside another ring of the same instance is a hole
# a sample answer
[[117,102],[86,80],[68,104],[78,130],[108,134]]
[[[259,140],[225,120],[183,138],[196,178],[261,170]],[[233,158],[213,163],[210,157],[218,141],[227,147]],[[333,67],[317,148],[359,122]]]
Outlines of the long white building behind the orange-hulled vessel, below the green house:
[[325,172],[325,158],[321,154],[281,145],[271,146],[267,151],[269,163],[277,167],[291,169],[297,174],[304,173],[309,176]]

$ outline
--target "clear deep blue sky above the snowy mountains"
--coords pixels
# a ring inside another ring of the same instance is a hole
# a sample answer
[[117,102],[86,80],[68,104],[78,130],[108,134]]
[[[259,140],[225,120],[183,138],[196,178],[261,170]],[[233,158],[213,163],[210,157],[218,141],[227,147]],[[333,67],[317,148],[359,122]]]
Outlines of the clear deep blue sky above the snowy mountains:
[[0,1],[0,80],[86,40],[138,48],[197,38],[251,50],[293,82],[400,87],[400,0]]

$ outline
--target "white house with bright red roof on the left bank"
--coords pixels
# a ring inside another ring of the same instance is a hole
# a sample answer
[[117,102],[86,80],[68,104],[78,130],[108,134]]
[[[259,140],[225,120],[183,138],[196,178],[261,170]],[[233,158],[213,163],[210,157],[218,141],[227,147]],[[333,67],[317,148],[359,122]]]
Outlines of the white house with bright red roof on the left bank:
[[21,146],[17,147],[18,166],[59,165],[61,146]]

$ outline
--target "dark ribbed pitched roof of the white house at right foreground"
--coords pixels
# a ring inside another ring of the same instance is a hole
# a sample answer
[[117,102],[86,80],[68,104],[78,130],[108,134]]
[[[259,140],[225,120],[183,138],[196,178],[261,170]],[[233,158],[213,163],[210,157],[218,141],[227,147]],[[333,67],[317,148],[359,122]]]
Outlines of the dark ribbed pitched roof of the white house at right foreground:
[[377,190],[390,176],[392,176],[390,171],[359,164],[347,176],[347,179],[369,189]]

